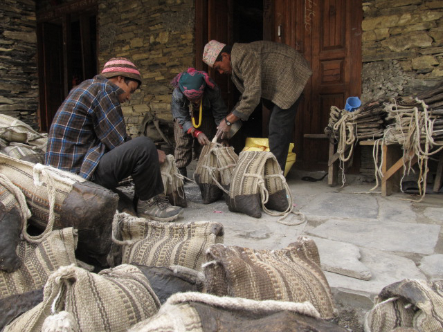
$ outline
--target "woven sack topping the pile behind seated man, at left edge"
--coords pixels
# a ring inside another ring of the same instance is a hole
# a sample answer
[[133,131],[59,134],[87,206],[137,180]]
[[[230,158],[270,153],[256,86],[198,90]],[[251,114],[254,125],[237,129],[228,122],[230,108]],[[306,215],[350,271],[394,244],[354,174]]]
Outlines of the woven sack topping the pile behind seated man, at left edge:
[[43,150],[46,150],[48,142],[46,133],[37,133],[25,122],[6,114],[0,114],[0,138],[8,142],[29,143]]

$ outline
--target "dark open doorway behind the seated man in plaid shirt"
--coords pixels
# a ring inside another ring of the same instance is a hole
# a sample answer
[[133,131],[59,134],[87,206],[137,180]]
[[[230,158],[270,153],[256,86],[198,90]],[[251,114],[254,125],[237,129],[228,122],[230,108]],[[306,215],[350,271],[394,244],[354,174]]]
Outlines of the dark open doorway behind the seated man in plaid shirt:
[[51,122],[73,86],[97,74],[97,10],[69,3],[37,10],[39,128]]

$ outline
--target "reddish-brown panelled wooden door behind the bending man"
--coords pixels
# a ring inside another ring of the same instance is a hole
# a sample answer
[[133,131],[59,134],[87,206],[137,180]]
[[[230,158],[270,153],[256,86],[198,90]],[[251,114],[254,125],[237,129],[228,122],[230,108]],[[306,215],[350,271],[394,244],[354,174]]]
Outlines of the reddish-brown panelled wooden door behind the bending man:
[[330,107],[361,95],[362,18],[359,1],[275,0],[273,41],[296,48],[313,71],[293,136],[299,167],[327,169],[328,141],[319,135]]

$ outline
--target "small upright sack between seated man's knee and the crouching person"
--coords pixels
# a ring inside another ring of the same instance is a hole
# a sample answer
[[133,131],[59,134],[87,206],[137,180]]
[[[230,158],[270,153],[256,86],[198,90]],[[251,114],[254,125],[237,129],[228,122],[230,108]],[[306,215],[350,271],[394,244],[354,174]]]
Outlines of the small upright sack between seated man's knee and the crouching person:
[[160,165],[161,179],[165,188],[165,196],[169,203],[186,208],[185,190],[183,188],[183,175],[180,174],[172,154],[165,156],[165,162]]

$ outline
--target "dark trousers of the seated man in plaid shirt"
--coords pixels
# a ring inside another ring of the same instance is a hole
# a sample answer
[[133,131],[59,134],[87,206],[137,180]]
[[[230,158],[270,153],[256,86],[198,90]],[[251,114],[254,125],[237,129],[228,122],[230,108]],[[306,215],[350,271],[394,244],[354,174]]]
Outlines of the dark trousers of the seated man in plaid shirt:
[[136,195],[143,201],[163,193],[159,154],[150,138],[134,138],[104,154],[92,181],[114,189],[128,176],[132,176]]

